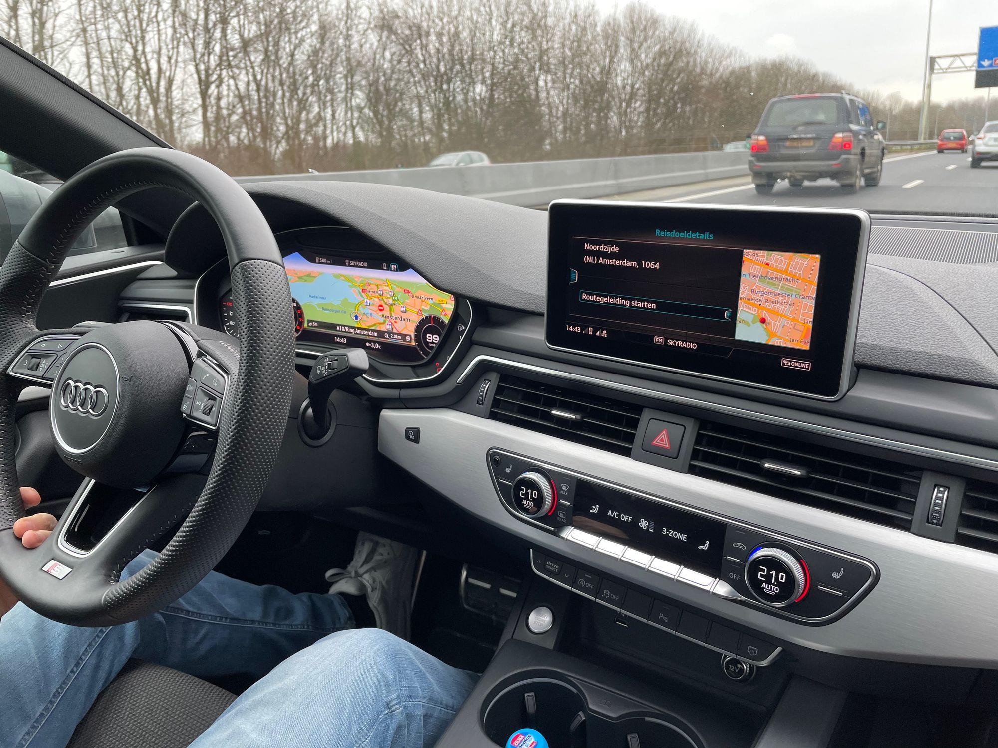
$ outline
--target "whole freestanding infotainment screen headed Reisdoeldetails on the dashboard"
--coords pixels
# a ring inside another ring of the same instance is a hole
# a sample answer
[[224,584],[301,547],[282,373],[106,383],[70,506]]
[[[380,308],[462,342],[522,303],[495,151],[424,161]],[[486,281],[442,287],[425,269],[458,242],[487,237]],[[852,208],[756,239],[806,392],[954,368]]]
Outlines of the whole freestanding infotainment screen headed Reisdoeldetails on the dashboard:
[[548,345],[840,397],[868,232],[858,210],[558,200]]

